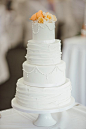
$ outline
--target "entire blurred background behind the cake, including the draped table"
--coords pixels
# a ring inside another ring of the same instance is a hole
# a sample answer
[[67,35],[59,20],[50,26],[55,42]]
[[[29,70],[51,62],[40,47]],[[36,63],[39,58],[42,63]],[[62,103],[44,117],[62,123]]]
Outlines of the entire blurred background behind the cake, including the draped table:
[[72,95],[86,106],[86,0],[0,0],[0,110],[11,107],[32,39],[29,18],[39,10],[57,17],[56,39],[62,41]]

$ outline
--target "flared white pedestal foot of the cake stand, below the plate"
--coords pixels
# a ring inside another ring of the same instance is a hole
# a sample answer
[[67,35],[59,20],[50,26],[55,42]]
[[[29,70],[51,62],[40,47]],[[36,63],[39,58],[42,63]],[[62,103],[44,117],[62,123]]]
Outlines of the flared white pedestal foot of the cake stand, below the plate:
[[39,114],[37,120],[34,122],[36,126],[53,126],[57,122],[52,118],[51,114]]

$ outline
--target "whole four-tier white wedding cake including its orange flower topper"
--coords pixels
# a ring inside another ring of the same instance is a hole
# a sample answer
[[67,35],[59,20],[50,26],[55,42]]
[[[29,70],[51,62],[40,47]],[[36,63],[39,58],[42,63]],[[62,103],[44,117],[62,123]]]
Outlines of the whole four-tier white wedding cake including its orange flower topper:
[[17,81],[16,102],[31,109],[53,109],[70,103],[71,83],[61,60],[61,41],[55,39],[56,17],[41,10],[32,20],[23,77]]

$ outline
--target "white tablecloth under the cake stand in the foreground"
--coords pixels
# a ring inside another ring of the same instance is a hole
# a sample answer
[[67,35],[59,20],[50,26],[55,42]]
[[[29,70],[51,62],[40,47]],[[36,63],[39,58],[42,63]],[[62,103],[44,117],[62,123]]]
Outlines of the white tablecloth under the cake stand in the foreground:
[[86,107],[76,104],[72,109],[52,114],[57,124],[52,127],[36,127],[37,114],[27,114],[15,109],[0,112],[0,129],[86,129]]

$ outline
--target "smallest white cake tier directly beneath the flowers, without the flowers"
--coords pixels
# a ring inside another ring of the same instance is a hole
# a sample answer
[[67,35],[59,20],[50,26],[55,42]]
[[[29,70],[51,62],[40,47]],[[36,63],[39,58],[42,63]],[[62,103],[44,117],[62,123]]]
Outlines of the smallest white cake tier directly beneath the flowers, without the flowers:
[[55,22],[53,23],[38,23],[32,22],[32,36],[33,40],[45,42],[53,42],[55,39]]

